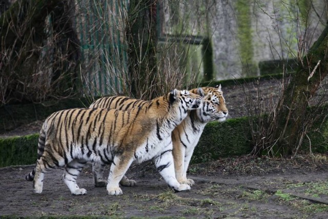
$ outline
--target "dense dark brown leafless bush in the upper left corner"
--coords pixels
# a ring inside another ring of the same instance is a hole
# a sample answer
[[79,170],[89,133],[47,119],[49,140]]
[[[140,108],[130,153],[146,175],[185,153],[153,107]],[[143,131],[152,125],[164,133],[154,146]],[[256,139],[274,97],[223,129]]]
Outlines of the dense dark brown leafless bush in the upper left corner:
[[17,1],[2,15],[0,104],[73,95],[79,52],[69,4]]

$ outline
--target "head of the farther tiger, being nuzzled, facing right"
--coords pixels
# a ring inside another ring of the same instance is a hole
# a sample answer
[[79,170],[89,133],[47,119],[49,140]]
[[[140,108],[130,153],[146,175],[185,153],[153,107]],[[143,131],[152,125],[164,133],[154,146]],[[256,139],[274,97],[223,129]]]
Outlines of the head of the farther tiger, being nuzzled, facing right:
[[[221,90],[221,84],[215,87],[202,87],[202,105],[196,111],[197,117],[202,122],[219,121],[222,122],[228,117],[228,108]],[[195,89],[192,92],[196,92]]]

